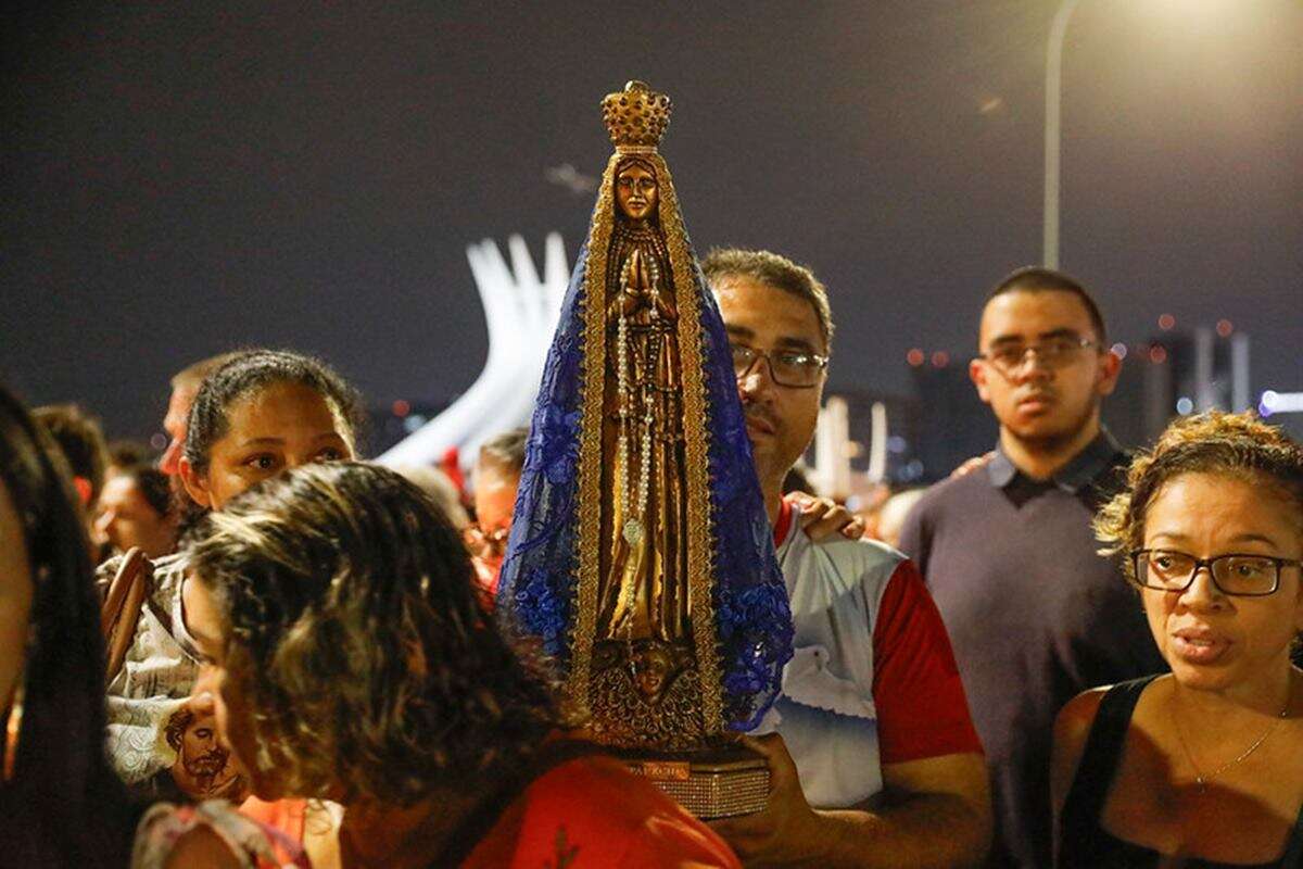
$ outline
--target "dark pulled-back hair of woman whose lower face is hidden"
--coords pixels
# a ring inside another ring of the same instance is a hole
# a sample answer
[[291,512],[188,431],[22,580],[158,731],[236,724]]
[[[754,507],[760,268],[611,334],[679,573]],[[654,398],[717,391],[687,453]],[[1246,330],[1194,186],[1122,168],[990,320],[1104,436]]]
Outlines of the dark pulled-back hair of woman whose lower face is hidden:
[[229,429],[228,412],[240,399],[278,383],[298,383],[334,405],[357,440],[365,426],[362,399],[348,380],[326,362],[292,350],[241,350],[203,379],[190,406],[185,459],[195,470],[208,466],[212,444]]

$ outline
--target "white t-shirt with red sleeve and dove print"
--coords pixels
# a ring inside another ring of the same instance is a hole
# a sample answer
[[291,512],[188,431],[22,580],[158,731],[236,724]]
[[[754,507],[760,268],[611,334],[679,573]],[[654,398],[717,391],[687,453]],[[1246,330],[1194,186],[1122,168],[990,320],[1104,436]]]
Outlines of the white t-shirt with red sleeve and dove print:
[[[981,752],[945,624],[917,568],[876,541],[814,543],[784,502],[774,529],[796,628],[766,719],[814,808],[882,790],[882,765]],[[777,727],[774,720],[777,719]]]

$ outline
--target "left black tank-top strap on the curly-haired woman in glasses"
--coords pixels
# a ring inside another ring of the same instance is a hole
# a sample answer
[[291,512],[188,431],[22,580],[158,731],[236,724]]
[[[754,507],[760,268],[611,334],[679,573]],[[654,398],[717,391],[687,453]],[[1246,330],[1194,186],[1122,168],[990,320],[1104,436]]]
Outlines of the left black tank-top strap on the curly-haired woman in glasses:
[[1081,749],[1081,760],[1076,765],[1076,776],[1063,801],[1063,817],[1059,822],[1061,865],[1088,865],[1080,862],[1085,855],[1079,848],[1097,839],[1100,812],[1122,758],[1131,715],[1141,692],[1154,679],[1157,675],[1118,683],[1100,701],[1085,748]]

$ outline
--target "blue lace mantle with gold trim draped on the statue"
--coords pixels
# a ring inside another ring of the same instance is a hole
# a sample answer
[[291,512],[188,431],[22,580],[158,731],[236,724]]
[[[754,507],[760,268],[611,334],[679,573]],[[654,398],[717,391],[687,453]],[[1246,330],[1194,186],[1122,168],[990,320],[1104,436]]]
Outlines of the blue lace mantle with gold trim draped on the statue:
[[[659,156],[654,159],[663,167]],[[609,231],[598,229],[602,221],[610,227],[616,163],[612,158],[603,176],[598,208],[571,275],[543,369],[498,591],[503,625],[539,645],[558,663],[562,677],[572,663],[577,623],[580,443],[586,426],[601,426],[601,420],[584,418],[585,275],[594,237],[598,242],[610,237]],[[674,210],[662,225],[667,233],[683,232],[678,201],[663,168],[661,184],[662,215],[666,208]],[[731,730],[747,731],[760,722],[779,692],[782,668],[791,657],[792,620],[752,464],[723,321],[685,235],[683,242],[691,272],[675,274],[675,292],[680,297],[696,293],[700,300],[711,602],[723,722]]]

